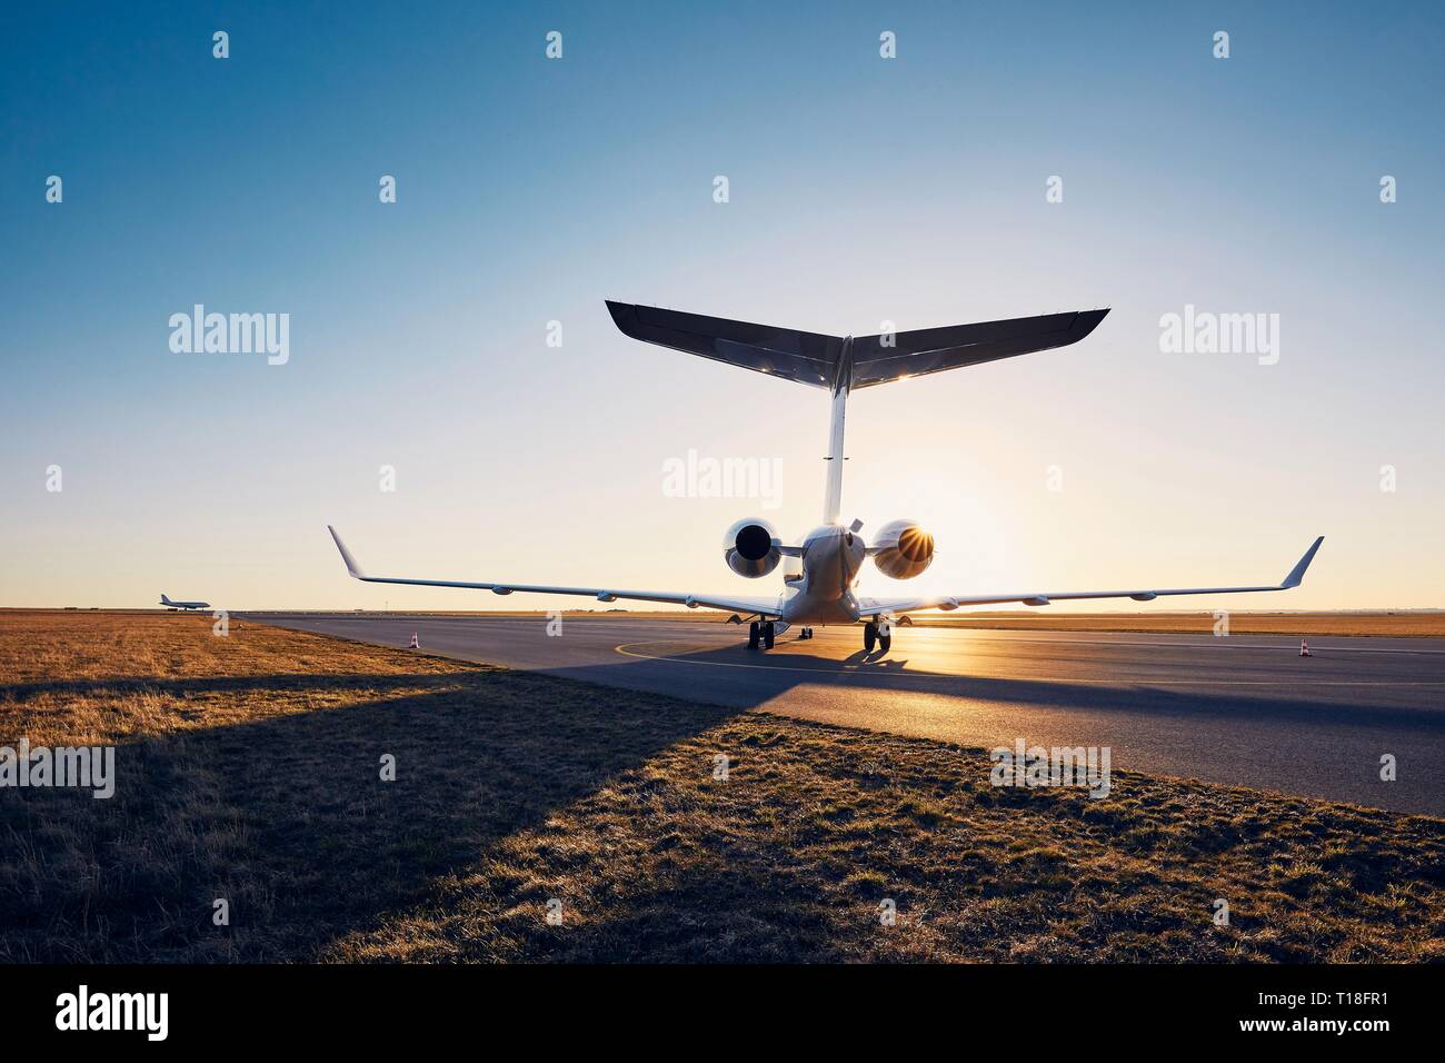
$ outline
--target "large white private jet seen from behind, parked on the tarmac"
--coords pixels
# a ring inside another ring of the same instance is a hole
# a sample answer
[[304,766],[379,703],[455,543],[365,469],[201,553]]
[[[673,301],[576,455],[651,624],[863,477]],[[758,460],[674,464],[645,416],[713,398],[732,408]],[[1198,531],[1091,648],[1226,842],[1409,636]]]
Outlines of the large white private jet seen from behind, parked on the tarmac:
[[[773,325],[683,314],[653,307],[608,302],[613,321],[627,336],[673,350],[698,354],[743,369],[753,369],[783,380],[824,388],[832,396],[832,421],[828,432],[828,479],[824,524],[808,532],[801,544],[785,542],[773,526],[759,518],[744,518],[722,537],[722,560],[738,576],[757,579],[772,573],[782,558],[798,558],[801,574],[785,574],[780,594],[737,597],[652,590],[614,590],[613,587],[551,587],[523,583],[465,583],[457,580],[412,580],[367,576],[341,542],[335,528],[331,537],[341,551],[347,571],[368,583],[403,583],[419,587],[465,587],[497,594],[513,592],[538,594],[585,594],[598,602],[630,599],[665,602],[689,609],[722,609],[749,615],[749,649],[772,649],[775,639],[790,626],[799,638],[812,638],[814,625],[863,625],[863,646],[884,654],[893,645],[893,623],[909,613],[926,609],[945,612],[959,606],[1022,603],[1046,606],[1078,599],[1129,597],[1152,602],[1173,594],[1243,594],[1298,587],[1324,537],[1315,539],[1289,574],[1277,584],[1253,587],[1189,587],[1179,590],[1085,590],[1025,592],[1019,594],[941,594],[929,597],[858,597],[854,594],[864,558],[884,574],[899,580],[919,576],[933,561],[933,537],[916,522],[890,521],[868,545],[861,521],[841,522],[842,512],[842,427],[848,393],[892,380],[906,380],[945,369],[977,366],[985,362],[1066,347],[1094,331],[1107,309],[1045,314],[1040,317],[987,321],[971,325],[923,328],[881,336],[837,337],[802,333]],[[733,620],[741,623],[740,616]]]

